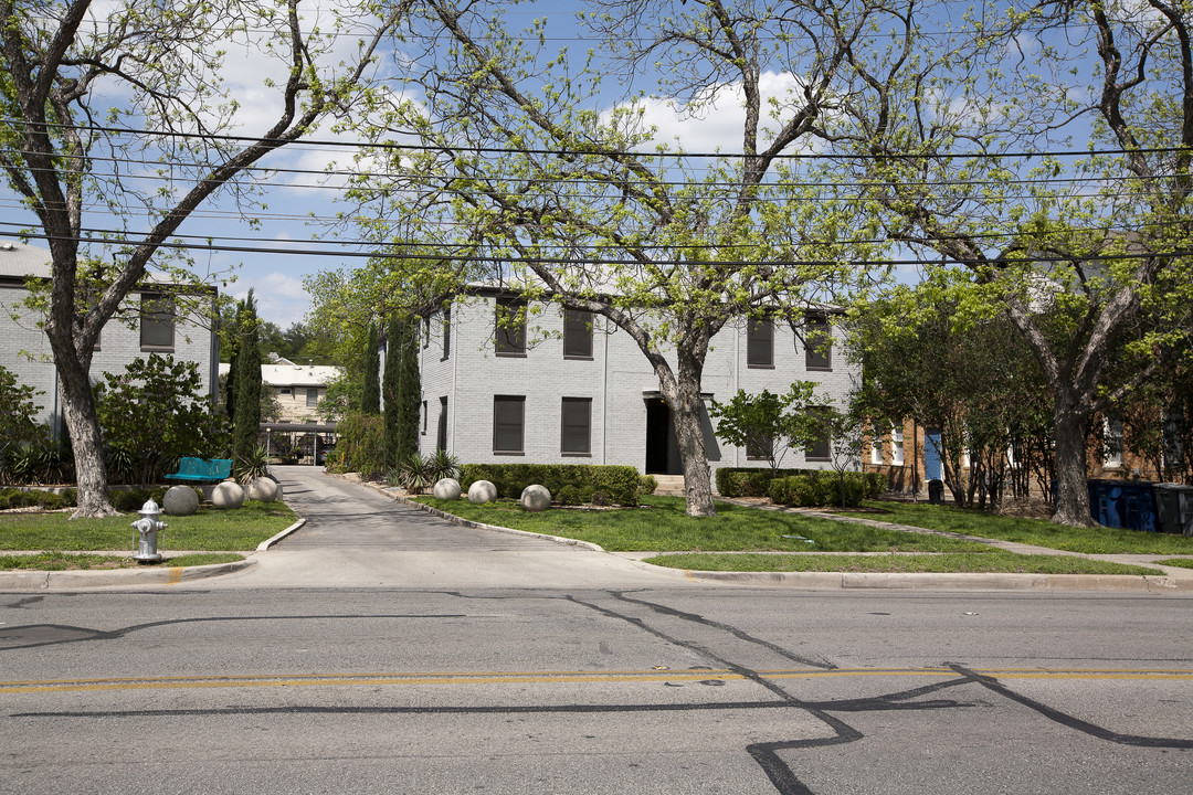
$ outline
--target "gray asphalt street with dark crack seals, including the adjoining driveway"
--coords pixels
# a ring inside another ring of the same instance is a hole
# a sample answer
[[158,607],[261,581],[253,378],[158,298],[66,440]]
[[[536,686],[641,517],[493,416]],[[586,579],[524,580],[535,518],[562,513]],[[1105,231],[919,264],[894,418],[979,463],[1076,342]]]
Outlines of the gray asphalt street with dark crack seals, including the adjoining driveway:
[[1193,791],[1187,597],[693,584],[308,499],[285,563],[0,594],[0,793]]

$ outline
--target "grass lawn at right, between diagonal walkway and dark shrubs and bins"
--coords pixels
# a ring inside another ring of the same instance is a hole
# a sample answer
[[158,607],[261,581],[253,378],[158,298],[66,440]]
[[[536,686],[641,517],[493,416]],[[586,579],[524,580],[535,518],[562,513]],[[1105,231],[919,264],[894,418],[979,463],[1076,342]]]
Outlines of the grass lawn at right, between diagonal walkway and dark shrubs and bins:
[[[855,514],[897,524],[1019,541],[1050,549],[1089,554],[1193,554],[1193,538],[1109,527],[1067,527],[1034,518],[994,516],[979,510],[927,503],[867,501],[880,513]],[[843,513],[843,511],[842,511]],[[845,514],[849,515],[849,514]]]

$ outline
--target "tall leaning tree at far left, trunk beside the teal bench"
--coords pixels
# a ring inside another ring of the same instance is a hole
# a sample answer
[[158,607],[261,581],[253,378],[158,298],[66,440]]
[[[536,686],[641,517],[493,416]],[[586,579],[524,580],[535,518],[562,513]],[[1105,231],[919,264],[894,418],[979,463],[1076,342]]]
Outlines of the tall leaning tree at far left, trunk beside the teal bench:
[[[172,281],[198,280],[171,267],[163,246],[217,194],[253,206],[253,180],[237,176],[330,113],[350,112],[372,85],[373,55],[398,13],[341,7],[313,25],[299,0],[0,0],[0,168],[51,253],[45,333],[74,448],[74,516],[116,513],[89,380],[104,324],[150,263]],[[350,62],[334,51],[342,35],[359,37]],[[255,133],[245,116],[268,103],[242,107],[223,88],[230,64],[248,57],[260,58],[278,108]],[[110,167],[130,160],[157,179]],[[92,221],[92,210],[104,218]],[[97,226],[113,231],[86,242]]]

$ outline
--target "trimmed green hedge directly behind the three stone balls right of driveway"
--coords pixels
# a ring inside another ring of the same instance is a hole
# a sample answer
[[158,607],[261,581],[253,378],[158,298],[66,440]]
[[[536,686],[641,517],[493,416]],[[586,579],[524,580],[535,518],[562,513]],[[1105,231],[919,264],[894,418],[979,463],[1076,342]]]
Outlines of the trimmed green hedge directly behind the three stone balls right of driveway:
[[546,486],[551,499],[563,505],[637,505],[642,476],[632,466],[596,464],[464,464],[459,485],[466,492],[477,480],[497,487],[497,496],[519,499],[523,489]]

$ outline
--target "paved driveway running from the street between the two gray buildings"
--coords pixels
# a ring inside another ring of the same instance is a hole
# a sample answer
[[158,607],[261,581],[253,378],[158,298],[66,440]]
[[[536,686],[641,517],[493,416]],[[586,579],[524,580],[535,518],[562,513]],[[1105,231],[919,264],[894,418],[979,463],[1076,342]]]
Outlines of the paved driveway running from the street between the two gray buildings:
[[688,582],[604,552],[437,518],[360,484],[274,467],[307,523],[209,588],[635,588]]

